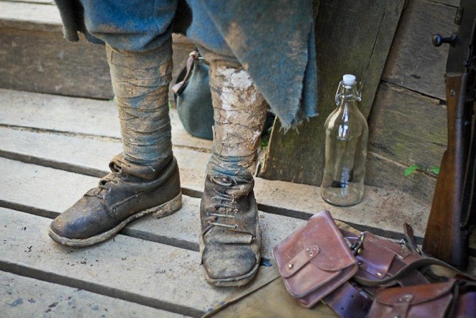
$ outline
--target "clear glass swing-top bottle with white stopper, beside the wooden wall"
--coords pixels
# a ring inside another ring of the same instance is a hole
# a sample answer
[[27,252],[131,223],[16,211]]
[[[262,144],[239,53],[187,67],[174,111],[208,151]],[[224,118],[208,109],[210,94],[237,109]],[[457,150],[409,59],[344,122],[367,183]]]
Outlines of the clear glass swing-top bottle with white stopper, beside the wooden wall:
[[354,75],[344,75],[338,105],[325,121],[325,164],[320,196],[334,206],[353,206],[364,196],[369,126],[359,111],[362,93]]

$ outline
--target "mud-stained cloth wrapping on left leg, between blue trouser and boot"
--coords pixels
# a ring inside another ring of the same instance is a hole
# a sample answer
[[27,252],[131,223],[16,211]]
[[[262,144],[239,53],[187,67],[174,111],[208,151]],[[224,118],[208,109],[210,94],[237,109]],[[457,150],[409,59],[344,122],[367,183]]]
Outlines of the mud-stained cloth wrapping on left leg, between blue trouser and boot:
[[172,41],[146,52],[106,49],[119,108],[123,156],[137,164],[157,164],[172,154],[168,115]]

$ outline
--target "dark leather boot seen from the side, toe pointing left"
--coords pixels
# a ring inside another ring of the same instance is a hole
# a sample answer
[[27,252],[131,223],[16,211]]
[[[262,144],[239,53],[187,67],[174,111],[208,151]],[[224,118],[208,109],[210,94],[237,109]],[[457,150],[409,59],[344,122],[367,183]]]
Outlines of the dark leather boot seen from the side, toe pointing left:
[[111,173],[55,218],[49,235],[72,247],[93,245],[116,235],[128,223],[148,213],[168,216],[182,205],[175,157],[158,166],[142,166],[117,155]]

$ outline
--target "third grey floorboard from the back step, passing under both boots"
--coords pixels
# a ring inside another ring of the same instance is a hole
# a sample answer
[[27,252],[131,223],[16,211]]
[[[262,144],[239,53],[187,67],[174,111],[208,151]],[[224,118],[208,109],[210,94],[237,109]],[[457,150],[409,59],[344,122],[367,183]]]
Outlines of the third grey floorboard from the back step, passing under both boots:
[[[97,185],[98,179],[66,171],[23,164],[19,161],[1,159],[5,174],[4,183],[0,185],[2,206],[15,208],[28,207],[31,213],[53,218],[69,208],[88,189]],[[197,188],[202,189],[202,178]],[[48,189],[45,191],[45,189]],[[49,211],[45,213],[44,211]],[[183,208],[168,218],[156,220],[153,216],[141,218],[128,226],[126,233],[146,240],[159,241],[177,245],[191,250],[198,250],[200,233],[200,199],[183,196]],[[272,257],[276,243],[286,238],[304,221],[301,219],[260,213],[263,230],[263,254]],[[275,225],[279,224],[279,227]]]

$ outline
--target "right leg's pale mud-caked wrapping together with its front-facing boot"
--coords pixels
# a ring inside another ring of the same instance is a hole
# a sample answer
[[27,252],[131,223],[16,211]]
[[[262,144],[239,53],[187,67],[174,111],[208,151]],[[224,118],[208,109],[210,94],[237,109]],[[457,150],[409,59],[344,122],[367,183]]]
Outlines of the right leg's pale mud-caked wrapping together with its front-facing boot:
[[200,204],[200,253],[208,282],[242,286],[261,258],[253,174],[268,105],[242,68],[210,63],[210,86],[215,125]]

